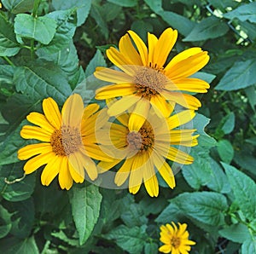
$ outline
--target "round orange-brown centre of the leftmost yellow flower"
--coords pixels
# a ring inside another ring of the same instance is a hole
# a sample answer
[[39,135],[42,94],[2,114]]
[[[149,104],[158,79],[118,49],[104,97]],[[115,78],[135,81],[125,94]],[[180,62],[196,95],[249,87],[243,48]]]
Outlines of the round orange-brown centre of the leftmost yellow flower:
[[68,156],[78,151],[82,144],[79,128],[63,125],[51,135],[50,144],[56,155]]

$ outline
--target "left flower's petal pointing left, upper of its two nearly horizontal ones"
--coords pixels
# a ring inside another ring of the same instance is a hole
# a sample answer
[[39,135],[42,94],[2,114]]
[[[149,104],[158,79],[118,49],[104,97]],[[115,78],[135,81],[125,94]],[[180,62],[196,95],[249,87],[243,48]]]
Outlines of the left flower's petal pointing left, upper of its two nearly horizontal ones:
[[49,142],[50,134],[47,130],[44,130],[38,126],[25,125],[20,131],[20,136],[25,139],[37,139],[38,141]]

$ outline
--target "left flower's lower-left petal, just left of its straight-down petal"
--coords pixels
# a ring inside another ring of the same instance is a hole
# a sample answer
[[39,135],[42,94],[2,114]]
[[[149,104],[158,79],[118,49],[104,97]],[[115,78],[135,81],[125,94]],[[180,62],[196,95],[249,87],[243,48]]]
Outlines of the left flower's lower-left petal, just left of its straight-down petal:
[[49,160],[49,163],[44,167],[44,170],[41,174],[41,182],[45,186],[49,186],[49,183],[52,182],[55,176],[58,175],[61,168],[61,160],[66,157],[55,156],[54,159]]

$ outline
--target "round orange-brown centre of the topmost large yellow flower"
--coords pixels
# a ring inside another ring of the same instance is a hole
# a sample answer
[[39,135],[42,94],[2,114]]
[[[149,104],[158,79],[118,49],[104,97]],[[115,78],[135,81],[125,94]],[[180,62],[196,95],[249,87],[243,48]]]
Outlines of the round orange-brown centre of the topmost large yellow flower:
[[160,93],[166,84],[166,76],[159,70],[151,67],[140,67],[133,83],[136,84],[137,95],[150,99]]

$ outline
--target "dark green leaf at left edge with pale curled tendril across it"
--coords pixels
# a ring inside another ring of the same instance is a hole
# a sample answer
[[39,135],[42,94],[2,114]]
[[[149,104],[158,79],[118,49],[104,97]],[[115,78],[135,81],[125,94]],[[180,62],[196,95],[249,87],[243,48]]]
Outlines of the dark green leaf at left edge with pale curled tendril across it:
[[35,187],[35,174],[23,178],[24,163],[0,167],[0,194],[11,202],[26,200],[31,197]]

